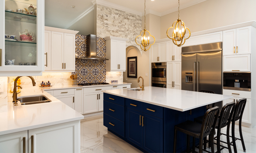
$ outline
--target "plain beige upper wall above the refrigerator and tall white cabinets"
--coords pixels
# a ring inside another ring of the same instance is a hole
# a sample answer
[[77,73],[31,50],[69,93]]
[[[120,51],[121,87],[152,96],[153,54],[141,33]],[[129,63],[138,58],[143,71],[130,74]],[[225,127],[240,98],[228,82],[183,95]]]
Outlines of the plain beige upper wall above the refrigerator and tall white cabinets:
[[[255,0],[208,0],[180,10],[180,19],[191,31],[203,31],[256,20]],[[178,11],[161,17],[161,39],[178,19]]]

